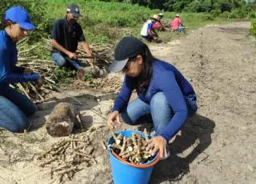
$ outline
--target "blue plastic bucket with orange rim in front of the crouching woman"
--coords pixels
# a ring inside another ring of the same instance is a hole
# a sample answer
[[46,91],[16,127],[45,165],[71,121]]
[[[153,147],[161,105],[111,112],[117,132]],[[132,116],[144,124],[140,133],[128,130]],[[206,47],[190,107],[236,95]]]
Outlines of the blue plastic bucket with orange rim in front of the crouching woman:
[[[116,134],[122,134],[126,138],[130,138],[133,133],[141,134],[142,137],[144,137],[144,134],[137,130],[123,130],[118,131]],[[107,141],[107,146],[113,142],[114,138],[110,137]],[[109,146],[108,151],[110,154],[110,166],[114,184],[146,184],[150,182],[154,165],[159,160],[158,154],[150,162],[146,162],[142,165],[134,165],[116,158]]]

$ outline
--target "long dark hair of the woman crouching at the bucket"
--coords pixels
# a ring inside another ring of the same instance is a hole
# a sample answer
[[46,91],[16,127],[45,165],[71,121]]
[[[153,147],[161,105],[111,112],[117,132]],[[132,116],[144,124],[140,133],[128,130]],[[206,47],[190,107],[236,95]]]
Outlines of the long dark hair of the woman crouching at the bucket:
[[141,54],[143,58],[144,70],[142,70],[142,73],[138,76],[135,89],[138,91],[138,93],[143,94],[146,92],[153,74],[154,57],[146,44],[144,45],[144,50]]

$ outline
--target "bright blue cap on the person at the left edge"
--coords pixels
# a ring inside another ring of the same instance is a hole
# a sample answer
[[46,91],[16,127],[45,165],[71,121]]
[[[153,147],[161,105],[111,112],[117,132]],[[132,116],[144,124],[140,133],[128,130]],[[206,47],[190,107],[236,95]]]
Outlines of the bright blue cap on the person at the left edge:
[[6,20],[18,23],[18,26],[24,30],[34,30],[35,26],[30,20],[30,14],[21,6],[14,6],[6,10]]

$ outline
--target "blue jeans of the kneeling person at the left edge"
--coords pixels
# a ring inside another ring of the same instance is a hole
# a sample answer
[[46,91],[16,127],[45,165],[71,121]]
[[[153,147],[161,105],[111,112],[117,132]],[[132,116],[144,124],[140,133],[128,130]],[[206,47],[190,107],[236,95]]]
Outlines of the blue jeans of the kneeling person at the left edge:
[[0,94],[0,127],[11,132],[22,132],[28,126],[26,116],[34,114],[37,107],[25,95],[7,86]]

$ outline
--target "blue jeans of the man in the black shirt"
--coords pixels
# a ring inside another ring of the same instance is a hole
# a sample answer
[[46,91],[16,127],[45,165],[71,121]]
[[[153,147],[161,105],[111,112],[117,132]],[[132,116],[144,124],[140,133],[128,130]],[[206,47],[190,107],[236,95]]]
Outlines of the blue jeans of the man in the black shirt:
[[58,67],[69,66],[74,70],[79,70],[80,68],[82,68],[82,63],[80,61],[70,59],[67,56],[65,57],[59,52],[53,52],[51,54],[51,58]]

